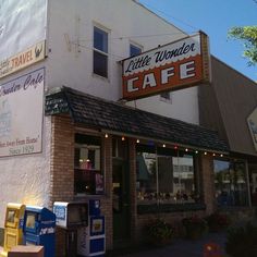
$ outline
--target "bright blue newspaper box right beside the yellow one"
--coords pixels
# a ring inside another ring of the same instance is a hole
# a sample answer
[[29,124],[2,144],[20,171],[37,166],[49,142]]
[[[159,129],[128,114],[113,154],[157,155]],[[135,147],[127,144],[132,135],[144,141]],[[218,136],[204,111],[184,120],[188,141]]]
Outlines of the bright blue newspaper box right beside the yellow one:
[[56,215],[45,207],[27,206],[23,236],[25,245],[41,245],[45,257],[54,257]]

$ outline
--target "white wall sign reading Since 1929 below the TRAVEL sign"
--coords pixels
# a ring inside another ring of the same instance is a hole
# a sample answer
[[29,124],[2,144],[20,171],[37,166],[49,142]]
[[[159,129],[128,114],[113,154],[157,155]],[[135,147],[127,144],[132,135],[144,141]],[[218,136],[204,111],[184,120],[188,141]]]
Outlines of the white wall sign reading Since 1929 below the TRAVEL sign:
[[45,69],[0,86],[0,157],[41,151]]

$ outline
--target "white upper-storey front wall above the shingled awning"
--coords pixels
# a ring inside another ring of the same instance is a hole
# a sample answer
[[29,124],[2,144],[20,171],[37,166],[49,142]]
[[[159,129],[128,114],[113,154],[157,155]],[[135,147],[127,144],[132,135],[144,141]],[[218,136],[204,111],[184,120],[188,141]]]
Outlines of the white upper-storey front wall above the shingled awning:
[[[132,0],[50,0],[48,5],[49,87],[65,85],[117,101],[122,98],[119,61],[128,57],[130,42],[149,50],[185,36]],[[94,25],[109,32],[108,79],[93,74]],[[198,124],[197,87],[175,91],[172,103],[155,96],[127,105]]]

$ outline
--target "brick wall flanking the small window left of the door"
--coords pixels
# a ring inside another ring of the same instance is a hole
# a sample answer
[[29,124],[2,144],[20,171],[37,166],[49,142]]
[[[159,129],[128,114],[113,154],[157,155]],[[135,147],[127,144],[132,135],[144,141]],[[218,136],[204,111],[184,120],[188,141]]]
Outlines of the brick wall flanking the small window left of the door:
[[[54,201],[74,200],[74,134],[75,127],[69,117],[52,117],[51,136],[51,192],[50,206]],[[86,134],[86,132],[85,132]],[[103,170],[106,172],[106,195],[100,197],[101,211],[106,216],[106,247],[112,248],[112,139],[103,138]],[[82,199],[83,200],[83,199]],[[64,256],[65,234],[57,229],[57,256]]]

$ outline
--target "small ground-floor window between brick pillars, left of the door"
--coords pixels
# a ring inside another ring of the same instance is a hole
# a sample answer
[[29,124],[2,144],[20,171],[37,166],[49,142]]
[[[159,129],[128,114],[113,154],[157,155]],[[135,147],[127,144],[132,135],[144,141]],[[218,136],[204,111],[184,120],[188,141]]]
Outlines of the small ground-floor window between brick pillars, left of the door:
[[74,189],[76,195],[103,194],[100,137],[75,135],[74,167]]

